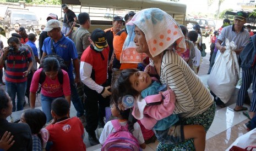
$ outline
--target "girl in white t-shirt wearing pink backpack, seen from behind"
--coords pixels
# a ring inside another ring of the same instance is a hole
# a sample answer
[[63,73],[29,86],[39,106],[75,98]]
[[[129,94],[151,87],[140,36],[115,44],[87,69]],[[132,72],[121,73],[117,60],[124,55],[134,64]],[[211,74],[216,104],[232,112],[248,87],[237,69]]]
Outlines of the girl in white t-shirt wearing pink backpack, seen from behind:
[[[130,109],[126,109],[124,111],[119,110],[117,104],[118,104],[118,101],[112,102],[111,113],[113,117],[117,117],[121,126],[125,126],[128,123],[129,132],[132,133],[135,138],[137,138],[141,148],[143,149],[146,148],[146,144],[145,144],[142,132],[140,130],[139,124],[138,123],[133,124],[132,122],[128,121]],[[100,140],[99,140],[100,143],[104,144],[108,135],[110,135],[110,133],[112,132],[115,132],[115,129],[113,127],[112,122],[108,121],[105,124],[104,129],[101,133]]]

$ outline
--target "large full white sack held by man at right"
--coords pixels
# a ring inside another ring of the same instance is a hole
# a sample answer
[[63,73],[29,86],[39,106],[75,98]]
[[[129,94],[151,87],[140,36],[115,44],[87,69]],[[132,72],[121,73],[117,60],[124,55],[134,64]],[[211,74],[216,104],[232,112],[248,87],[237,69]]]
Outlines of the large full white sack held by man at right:
[[207,84],[211,91],[227,103],[239,80],[239,65],[236,57],[236,45],[226,39],[226,51],[217,56]]

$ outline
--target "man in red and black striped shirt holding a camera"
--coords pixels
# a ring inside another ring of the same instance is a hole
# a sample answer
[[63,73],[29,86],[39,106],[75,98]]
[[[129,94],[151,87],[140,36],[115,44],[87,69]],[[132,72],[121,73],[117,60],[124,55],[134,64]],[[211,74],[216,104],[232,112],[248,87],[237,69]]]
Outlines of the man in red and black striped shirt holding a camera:
[[[3,49],[0,66],[6,68],[6,91],[13,102],[13,112],[15,112],[23,110],[27,76],[33,62],[30,51],[19,46],[17,37],[10,37],[7,43],[9,47]],[[15,104],[16,94],[17,105]]]

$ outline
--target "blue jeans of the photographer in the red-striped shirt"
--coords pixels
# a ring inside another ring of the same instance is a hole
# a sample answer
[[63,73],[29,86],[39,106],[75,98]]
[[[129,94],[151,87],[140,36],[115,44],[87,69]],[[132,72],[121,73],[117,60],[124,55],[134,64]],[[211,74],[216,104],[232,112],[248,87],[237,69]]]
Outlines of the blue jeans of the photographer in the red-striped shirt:
[[[13,112],[23,110],[23,103],[25,101],[26,82],[13,83],[6,82],[6,91],[13,102]],[[17,105],[15,98],[17,94]]]

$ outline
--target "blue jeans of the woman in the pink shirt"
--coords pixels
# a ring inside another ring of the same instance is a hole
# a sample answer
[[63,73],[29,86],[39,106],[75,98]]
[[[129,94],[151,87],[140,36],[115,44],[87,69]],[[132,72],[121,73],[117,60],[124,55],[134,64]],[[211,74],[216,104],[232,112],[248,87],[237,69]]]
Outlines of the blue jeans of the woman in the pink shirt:
[[43,113],[45,113],[46,115],[46,123],[48,123],[52,119],[52,101],[55,100],[55,98],[58,97],[48,97],[41,94],[41,106]]

